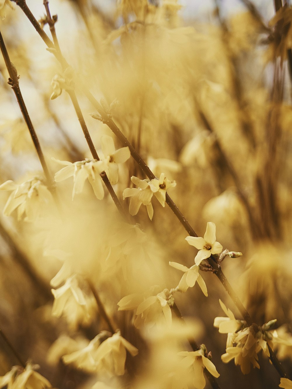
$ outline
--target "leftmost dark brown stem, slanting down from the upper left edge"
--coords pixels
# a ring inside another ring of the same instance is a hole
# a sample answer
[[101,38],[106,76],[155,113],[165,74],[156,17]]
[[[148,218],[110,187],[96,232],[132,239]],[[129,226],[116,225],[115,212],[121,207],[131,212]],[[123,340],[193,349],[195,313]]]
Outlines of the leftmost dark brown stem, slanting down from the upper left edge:
[[11,85],[11,88],[13,89],[13,91],[15,93],[16,99],[18,101],[20,110],[21,110],[22,115],[23,115],[23,119],[25,119],[25,123],[28,127],[28,130],[30,131],[30,135],[32,137],[33,144],[34,144],[35,149],[37,151],[37,155],[39,157],[42,168],[44,170],[44,175],[45,175],[46,180],[47,180],[47,186],[52,187],[53,182],[51,180],[49,170],[47,168],[44,154],[43,154],[42,149],[40,147],[39,139],[37,137],[35,129],[33,128],[32,121],[30,120],[30,116],[29,116],[28,111],[26,109],[26,105],[25,105],[25,102],[23,100],[20,88],[19,88],[19,83],[18,83],[19,76],[17,74],[16,68],[14,67],[14,65],[12,65],[12,63],[10,61],[9,54],[7,52],[7,49],[6,49],[1,32],[0,32],[0,47],[1,47],[1,52],[3,55],[4,61],[5,61],[5,65],[7,67],[7,70],[8,70],[9,76],[10,76],[8,84]]

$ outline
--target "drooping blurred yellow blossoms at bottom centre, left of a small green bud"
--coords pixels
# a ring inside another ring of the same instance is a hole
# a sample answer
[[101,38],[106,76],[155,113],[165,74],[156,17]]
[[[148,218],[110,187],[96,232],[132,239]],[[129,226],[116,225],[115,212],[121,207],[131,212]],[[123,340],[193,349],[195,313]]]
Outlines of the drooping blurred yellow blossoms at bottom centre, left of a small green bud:
[[[142,301],[141,301],[142,300]],[[172,316],[171,307],[174,304],[172,290],[164,289],[156,296],[149,296],[143,300],[139,294],[130,294],[123,297],[118,302],[118,310],[136,309],[137,315],[134,325],[140,328],[143,324],[149,327],[154,326],[171,326]]]

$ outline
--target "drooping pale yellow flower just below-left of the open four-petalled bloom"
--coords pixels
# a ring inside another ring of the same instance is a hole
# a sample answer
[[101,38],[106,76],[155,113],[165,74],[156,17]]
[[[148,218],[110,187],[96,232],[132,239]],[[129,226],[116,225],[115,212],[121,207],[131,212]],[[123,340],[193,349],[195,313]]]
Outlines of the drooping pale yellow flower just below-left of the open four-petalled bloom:
[[190,268],[188,268],[177,262],[169,262],[169,265],[184,272],[183,277],[181,277],[181,280],[179,281],[179,284],[176,289],[178,289],[181,292],[186,292],[189,287],[193,287],[197,282],[199,284],[199,287],[202,289],[204,295],[208,296],[208,291],[207,291],[205,281],[203,280],[201,274],[199,273],[199,266],[193,265]]

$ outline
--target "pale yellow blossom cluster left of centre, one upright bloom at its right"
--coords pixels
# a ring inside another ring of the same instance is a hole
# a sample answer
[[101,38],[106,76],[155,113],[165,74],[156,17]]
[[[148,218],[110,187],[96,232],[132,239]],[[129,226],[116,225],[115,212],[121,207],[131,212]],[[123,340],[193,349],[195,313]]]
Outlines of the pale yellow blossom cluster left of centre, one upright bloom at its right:
[[113,138],[104,135],[101,138],[102,152],[104,154],[100,161],[96,159],[85,159],[84,161],[68,162],[54,159],[57,163],[65,165],[55,174],[55,181],[60,182],[69,177],[74,178],[72,199],[81,193],[86,179],[90,182],[95,196],[102,200],[104,198],[104,188],[100,173],[106,172],[109,182],[114,185],[118,182],[118,163],[123,163],[130,158],[128,147],[122,147],[115,151]]

